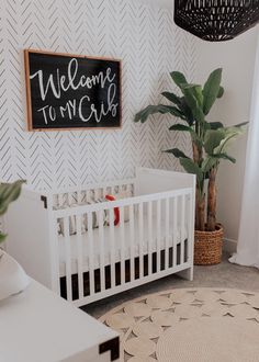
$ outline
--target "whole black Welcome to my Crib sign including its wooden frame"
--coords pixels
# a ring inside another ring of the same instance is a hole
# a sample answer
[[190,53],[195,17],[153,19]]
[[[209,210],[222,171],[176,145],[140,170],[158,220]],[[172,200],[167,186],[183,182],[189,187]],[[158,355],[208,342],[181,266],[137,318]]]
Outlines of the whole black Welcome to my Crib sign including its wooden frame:
[[24,50],[27,129],[121,126],[121,61]]

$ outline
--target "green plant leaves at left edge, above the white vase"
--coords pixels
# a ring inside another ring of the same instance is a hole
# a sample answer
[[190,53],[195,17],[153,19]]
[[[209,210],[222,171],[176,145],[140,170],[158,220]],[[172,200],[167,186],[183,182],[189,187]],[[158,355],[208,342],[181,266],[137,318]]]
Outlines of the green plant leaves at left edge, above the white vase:
[[[20,196],[24,182],[23,180],[19,180],[13,183],[0,183],[0,216],[5,214],[9,204]],[[5,237],[7,235],[0,231],[0,244],[4,241]]]

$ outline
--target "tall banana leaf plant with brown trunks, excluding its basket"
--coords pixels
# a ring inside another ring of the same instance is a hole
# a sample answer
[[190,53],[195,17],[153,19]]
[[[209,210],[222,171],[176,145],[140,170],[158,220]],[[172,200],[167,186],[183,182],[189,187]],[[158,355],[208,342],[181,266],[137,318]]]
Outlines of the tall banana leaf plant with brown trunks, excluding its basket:
[[[189,83],[183,73],[172,71],[173,82],[181,95],[162,92],[167,104],[148,105],[135,115],[135,122],[146,122],[150,115],[171,114],[180,122],[170,131],[190,134],[192,158],[178,148],[165,150],[177,157],[189,173],[196,176],[195,229],[214,231],[216,229],[216,174],[221,160],[233,163],[235,158],[227,154],[229,144],[245,132],[246,123],[225,127],[222,122],[209,122],[207,115],[218,98],[224,94],[222,68],[209,76],[205,84]],[[168,104],[168,101],[170,102]],[[209,180],[207,182],[205,182]],[[207,210],[205,212],[205,186],[207,186]]]

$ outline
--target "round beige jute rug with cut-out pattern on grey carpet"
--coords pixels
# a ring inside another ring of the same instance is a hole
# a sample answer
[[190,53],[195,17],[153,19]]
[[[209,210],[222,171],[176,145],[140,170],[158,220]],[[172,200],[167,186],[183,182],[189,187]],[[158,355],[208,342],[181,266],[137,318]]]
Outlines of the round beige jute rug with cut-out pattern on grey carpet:
[[259,293],[171,290],[124,303],[100,320],[119,331],[121,361],[259,361]]

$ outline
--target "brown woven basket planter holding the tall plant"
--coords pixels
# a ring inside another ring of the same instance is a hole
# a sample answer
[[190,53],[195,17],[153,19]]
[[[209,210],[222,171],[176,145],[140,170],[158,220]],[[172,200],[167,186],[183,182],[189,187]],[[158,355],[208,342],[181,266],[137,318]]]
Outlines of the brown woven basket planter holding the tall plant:
[[222,261],[223,227],[217,224],[215,231],[194,233],[194,264],[212,265]]

